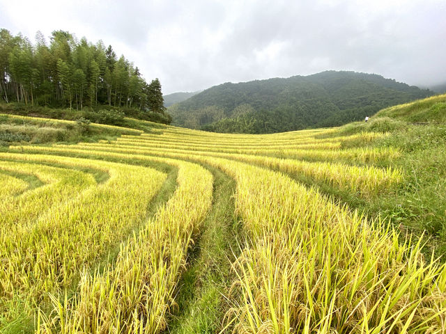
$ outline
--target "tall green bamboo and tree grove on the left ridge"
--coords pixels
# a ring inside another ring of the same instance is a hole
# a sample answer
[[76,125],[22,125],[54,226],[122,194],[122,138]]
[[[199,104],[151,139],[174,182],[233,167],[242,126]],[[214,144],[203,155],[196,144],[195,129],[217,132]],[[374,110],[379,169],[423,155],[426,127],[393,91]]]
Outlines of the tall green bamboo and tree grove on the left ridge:
[[63,107],[126,107],[164,114],[161,84],[148,84],[138,67],[112,46],[77,40],[53,31],[47,44],[42,33],[32,44],[22,35],[0,30],[0,95],[6,103]]

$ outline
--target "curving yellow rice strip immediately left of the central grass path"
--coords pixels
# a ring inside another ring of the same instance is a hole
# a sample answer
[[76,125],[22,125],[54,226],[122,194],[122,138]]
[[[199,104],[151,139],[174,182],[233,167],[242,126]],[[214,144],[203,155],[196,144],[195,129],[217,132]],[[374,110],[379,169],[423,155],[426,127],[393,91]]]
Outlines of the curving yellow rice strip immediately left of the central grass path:
[[165,161],[178,164],[174,197],[121,246],[116,264],[104,274],[82,273],[73,300],[54,299],[57,316],[37,333],[158,333],[166,328],[187,249],[211,204],[213,177],[200,166]]

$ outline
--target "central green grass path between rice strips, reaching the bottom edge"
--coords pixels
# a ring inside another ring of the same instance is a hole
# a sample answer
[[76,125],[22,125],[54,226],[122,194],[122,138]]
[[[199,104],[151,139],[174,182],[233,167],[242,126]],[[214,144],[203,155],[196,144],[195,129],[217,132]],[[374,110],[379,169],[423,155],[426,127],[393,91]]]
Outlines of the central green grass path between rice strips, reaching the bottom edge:
[[241,224],[234,217],[236,182],[217,168],[203,165],[214,176],[213,207],[190,251],[190,267],[180,281],[178,312],[169,319],[169,333],[218,333],[230,307],[231,262],[238,255]]

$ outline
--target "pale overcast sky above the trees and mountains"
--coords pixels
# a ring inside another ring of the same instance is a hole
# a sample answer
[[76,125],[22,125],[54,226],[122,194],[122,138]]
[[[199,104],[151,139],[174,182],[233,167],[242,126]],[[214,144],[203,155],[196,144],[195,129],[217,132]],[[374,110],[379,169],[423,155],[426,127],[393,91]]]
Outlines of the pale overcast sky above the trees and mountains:
[[102,40],[164,94],[323,70],[446,81],[445,0],[0,0],[0,28]]

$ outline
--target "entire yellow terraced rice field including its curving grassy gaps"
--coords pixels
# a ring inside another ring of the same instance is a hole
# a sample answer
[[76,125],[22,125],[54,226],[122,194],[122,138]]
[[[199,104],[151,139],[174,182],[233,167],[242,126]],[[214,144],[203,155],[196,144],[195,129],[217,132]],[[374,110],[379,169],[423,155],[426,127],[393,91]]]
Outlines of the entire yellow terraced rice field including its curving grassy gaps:
[[0,153],[0,332],[446,333],[445,266],[320,189],[392,193],[399,152],[333,131]]

